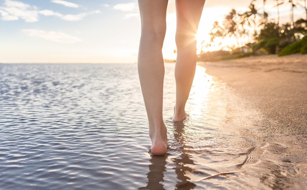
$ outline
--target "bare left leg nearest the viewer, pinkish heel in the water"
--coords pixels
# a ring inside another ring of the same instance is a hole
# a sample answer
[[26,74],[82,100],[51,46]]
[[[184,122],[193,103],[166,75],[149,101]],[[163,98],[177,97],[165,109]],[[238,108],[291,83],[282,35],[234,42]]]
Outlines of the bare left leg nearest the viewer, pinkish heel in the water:
[[138,74],[149,121],[151,153],[167,151],[167,130],[162,116],[164,63],[162,46],[166,31],[167,0],[138,0],[142,34],[138,52]]

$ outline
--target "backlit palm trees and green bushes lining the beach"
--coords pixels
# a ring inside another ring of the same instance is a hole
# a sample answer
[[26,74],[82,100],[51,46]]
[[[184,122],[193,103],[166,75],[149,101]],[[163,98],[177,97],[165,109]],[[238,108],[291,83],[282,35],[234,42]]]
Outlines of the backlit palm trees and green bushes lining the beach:
[[[250,55],[278,54],[279,56],[293,53],[307,53],[307,8],[293,0],[274,0],[278,19],[268,19],[268,13],[263,7],[257,7],[255,0],[251,1],[249,9],[243,13],[232,9],[223,22],[216,21],[210,32],[210,42],[202,41],[198,60],[224,60],[235,59]],[[273,1],[273,0],[271,0]],[[303,0],[298,0],[303,1]],[[305,1],[305,0],[304,0]],[[306,2],[306,1],[305,1]],[[279,6],[285,4],[289,7],[290,23],[279,22]],[[302,6],[306,10],[305,18],[293,20],[295,7]],[[232,39],[232,40],[231,40]],[[233,40],[235,39],[235,40]],[[235,41],[233,44],[226,41]],[[217,49],[216,52],[206,52],[206,49]]]

